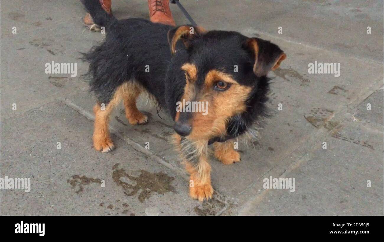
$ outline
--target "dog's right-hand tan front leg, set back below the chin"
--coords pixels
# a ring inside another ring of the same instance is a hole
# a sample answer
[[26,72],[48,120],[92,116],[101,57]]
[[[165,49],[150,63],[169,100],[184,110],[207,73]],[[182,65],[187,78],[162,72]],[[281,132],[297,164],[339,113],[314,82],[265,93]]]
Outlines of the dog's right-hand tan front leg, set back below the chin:
[[230,165],[241,161],[240,154],[235,150],[234,144],[235,140],[227,140],[225,142],[215,142],[215,156],[220,160],[224,165]]

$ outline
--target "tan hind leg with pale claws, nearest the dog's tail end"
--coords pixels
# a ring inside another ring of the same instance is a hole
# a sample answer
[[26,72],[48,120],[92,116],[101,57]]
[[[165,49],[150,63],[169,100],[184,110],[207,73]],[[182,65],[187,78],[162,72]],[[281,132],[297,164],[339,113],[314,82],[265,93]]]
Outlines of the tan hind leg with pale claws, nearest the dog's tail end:
[[108,102],[108,104],[102,104],[98,102],[93,107],[93,112],[95,115],[93,147],[98,151],[108,152],[114,148],[108,130],[109,115],[124,97],[126,86],[126,84],[119,86],[114,92],[113,98]]

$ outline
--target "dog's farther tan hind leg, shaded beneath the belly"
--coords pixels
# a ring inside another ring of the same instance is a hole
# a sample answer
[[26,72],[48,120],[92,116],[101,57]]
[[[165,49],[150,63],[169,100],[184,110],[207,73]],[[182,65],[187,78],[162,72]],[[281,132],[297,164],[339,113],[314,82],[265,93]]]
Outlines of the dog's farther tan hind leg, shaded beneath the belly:
[[142,114],[136,107],[136,99],[139,97],[142,87],[134,81],[128,82],[126,86],[123,98],[125,115],[128,122],[131,125],[146,123],[148,121],[148,117]]

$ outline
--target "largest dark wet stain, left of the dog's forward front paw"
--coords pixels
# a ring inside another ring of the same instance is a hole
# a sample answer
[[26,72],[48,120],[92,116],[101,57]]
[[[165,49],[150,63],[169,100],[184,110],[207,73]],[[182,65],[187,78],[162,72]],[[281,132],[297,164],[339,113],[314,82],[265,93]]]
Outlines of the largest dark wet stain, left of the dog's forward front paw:
[[[129,175],[124,169],[117,169],[118,166],[116,165],[114,167],[116,170],[112,174],[113,181],[123,188],[124,194],[127,196],[134,196],[139,193],[138,199],[140,202],[149,199],[152,192],[157,194],[175,193],[175,188],[171,185],[175,178],[166,173],[150,173],[139,170],[139,177],[135,177]],[[122,181],[122,179],[128,179],[131,184]]]

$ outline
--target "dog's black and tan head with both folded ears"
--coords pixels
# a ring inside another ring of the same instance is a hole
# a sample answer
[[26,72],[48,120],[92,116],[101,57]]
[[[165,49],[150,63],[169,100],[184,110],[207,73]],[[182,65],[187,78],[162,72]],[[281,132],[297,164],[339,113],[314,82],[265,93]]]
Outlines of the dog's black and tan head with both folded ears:
[[275,44],[234,31],[180,26],[168,32],[166,79],[175,131],[191,140],[236,137],[265,110],[268,78],[286,58]]

